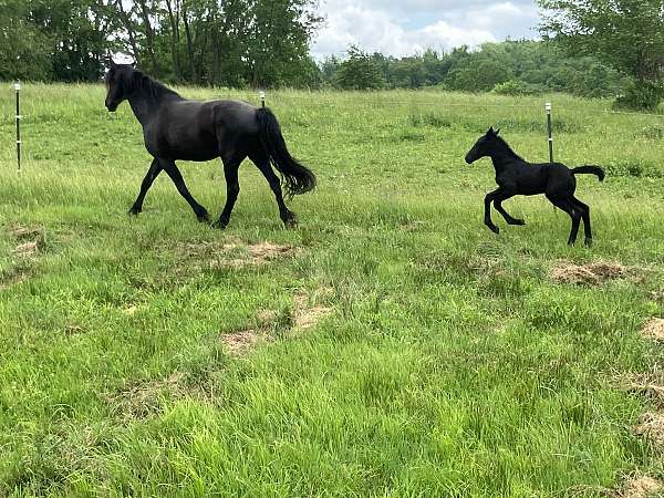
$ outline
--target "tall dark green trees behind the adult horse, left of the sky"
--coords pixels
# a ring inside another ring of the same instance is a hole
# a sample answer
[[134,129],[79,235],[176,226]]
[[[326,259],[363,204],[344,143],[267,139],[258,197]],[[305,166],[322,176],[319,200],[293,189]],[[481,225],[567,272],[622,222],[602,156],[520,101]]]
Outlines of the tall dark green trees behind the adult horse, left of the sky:
[[122,52],[156,77],[303,86],[315,0],[0,0],[0,79],[98,81]]

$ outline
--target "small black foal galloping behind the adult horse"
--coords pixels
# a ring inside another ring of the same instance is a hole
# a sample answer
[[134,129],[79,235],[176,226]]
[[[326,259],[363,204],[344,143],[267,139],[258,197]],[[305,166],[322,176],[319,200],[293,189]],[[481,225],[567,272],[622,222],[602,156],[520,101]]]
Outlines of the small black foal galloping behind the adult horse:
[[604,170],[598,166],[581,166],[569,169],[560,163],[530,164],[519,157],[498,136],[499,131],[491,127],[483,135],[466,155],[466,163],[473,164],[481,157],[490,157],[496,169],[498,189],[485,198],[485,225],[498,234],[499,228],[491,221],[491,203],[502,215],[508,225],[526,225],[522,219],[516,219],[502,207],[502,203],[515,196],[535,196],[544,194],[556,207],[562,209],[572,218],[572,231],[568,243],[574,245],[579,234],[579,225],[583,219],[585,245],[592,243],[590,227],[590,208],[574,197],[577,178],[574,175],[596,175],[604,180]]

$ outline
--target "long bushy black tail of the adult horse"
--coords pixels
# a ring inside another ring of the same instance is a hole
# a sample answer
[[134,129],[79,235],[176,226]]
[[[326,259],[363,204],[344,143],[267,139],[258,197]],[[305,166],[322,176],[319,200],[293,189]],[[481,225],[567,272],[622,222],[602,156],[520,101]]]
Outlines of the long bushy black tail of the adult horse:
[[270,157],[270,163],[281,173],[288,195],[301,195],[313,190],[315,175],[290,155],[272,111],[261,107],[256,115],[260,125],[260,142]]

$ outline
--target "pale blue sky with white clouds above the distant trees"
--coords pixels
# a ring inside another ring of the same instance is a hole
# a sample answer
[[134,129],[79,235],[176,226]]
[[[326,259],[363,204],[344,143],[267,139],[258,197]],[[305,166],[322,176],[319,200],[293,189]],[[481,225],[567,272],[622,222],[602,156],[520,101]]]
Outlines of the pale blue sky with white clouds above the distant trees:
[[312,46],[317,59],[350,44],[400,56],[537,38],[539,22],[535,0],[321,0],[319,12],[325,25]]

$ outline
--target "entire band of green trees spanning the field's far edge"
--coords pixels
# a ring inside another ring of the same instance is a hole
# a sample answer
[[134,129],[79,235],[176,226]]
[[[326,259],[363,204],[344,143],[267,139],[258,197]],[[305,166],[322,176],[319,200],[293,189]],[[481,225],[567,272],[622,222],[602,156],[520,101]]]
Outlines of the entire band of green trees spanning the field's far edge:
[[664,0],[538,0],[542,41],[314,61],[318,0],[0,0],[0,80],[98,81],[108,53],[232,87],[422,89],[664,98]]

